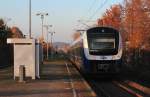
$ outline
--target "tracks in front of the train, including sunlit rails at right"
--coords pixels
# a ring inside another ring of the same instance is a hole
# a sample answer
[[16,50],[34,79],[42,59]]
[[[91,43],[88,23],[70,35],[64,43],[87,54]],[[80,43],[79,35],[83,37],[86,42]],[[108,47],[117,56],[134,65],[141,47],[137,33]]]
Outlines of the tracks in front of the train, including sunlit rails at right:
[[127,83],[108,80],[88,80],[98,97],[150,97]]

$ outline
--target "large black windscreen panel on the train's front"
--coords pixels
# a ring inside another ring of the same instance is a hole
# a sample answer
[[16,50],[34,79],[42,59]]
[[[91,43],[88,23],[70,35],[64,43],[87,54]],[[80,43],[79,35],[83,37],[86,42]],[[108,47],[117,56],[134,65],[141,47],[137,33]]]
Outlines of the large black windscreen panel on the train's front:
[[94,28],[87,31],[91,55],[115,55],[119,47],[119,33],[111,28]]

